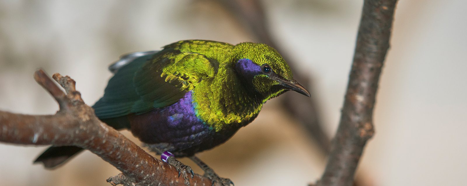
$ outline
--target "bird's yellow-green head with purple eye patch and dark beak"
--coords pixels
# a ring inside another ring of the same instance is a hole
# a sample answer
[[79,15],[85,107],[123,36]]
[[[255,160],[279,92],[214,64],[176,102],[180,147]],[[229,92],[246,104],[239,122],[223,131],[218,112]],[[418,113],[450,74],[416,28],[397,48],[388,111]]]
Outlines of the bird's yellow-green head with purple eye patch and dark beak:
[[274,48],[245,42],[236,45],[233,54],[237,74],[265,100],[289,90],[310,96],[304,86],[293,79],[289,65]]

